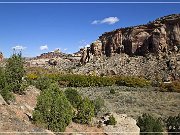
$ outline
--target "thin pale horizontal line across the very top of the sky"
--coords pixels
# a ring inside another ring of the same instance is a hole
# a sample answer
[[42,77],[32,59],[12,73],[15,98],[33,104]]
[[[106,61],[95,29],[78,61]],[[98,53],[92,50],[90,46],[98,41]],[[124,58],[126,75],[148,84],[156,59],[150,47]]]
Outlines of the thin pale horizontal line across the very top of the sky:
[[154,1],[154,2],[148,2],[148,1],[136,1],[136,2],[126,2],[126,1],[122,1],[122,2],[116,2],[116,1],[112,1],[112,2],[101,2],[101,1],[97,1],[97,2],[91,2],[91,1],[87,1],[87,2],[81,2],[81,1],[76,1],[76,2],[67,2],[67,1],[64,1],[64,2],[46,2],[46,1],[42,1],[42,2],[36,2],[36,1],[27,1],[27,2],[20,2],[20,1],[17,1],[17,2],[0,2],[0,4],[180,4],[180,1],[179,2],[173,2],[173,1],[169,1],[169,2],[160,2],[160,1]]

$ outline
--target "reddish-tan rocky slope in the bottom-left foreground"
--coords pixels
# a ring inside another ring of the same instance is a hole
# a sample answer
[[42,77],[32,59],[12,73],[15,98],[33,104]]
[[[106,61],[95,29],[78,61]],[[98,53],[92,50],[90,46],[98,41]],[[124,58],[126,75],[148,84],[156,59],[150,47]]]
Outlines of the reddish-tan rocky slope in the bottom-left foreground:
[[[52,132],[33,125],[30,121],[36,98],[40,91],[29,87],[25,95],[16,95],[15,101],[7,105],[0,96],[0,134],[53,135]],[[28,133],[29,132],[29,133]]]

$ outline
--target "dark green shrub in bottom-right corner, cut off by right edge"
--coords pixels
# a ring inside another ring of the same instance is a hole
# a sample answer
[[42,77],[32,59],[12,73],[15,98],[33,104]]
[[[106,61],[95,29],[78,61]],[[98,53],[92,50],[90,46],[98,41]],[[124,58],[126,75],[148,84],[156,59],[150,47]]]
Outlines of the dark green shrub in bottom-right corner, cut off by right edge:
[[180,114],[178,116],[170,116],[166,120],[166,127],[169,135],[179,135],[180,133]]

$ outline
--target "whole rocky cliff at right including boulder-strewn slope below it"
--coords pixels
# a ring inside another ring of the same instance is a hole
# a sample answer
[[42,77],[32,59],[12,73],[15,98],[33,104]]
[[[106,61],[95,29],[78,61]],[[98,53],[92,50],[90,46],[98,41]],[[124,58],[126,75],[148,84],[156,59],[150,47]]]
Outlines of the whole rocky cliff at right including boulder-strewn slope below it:
[[106,32],[82,52],[80,63],[84,66],[75,70],[76,73],[178,79],[180,14]]

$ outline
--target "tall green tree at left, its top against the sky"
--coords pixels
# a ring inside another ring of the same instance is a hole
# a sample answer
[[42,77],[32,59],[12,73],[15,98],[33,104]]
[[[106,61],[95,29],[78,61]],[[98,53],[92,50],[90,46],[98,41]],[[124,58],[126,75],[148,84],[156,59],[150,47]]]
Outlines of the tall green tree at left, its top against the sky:
[[13,54],[7,60],[5,68],[5,78],[7,85],[11,85],[12,91],[20,93],[20,87],[25,70],[23,67],[23,59],[21,54]]

